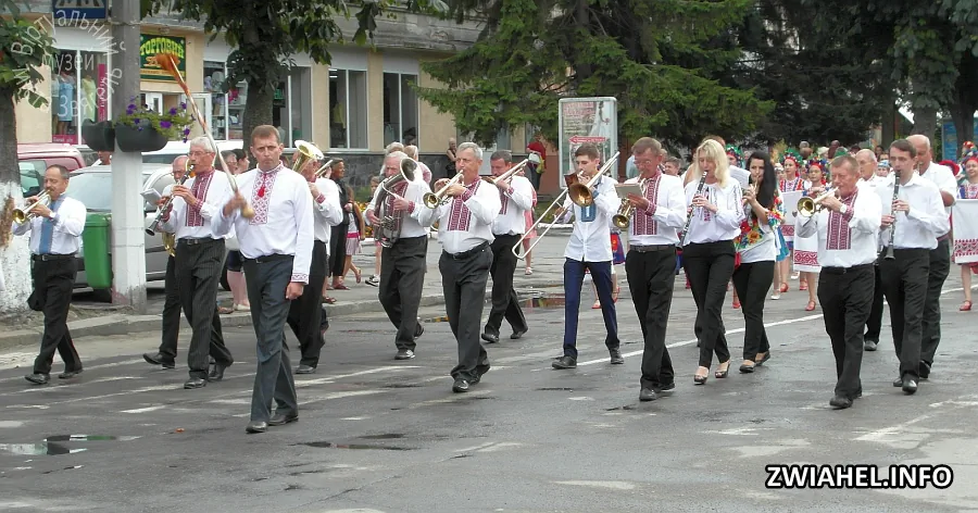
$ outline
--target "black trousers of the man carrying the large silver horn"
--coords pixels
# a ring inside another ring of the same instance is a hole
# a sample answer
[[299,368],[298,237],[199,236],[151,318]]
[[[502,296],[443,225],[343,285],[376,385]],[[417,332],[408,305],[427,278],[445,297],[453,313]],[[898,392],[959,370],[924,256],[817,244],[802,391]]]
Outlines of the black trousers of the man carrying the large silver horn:
[[[398,328],[394,346],[414,351],[417,346],[417,309],[427,271],[428,237],[398,239],[380,251],[380,284],[377,290],[387,318]],[[478,324],[478,321],[476,321]]]

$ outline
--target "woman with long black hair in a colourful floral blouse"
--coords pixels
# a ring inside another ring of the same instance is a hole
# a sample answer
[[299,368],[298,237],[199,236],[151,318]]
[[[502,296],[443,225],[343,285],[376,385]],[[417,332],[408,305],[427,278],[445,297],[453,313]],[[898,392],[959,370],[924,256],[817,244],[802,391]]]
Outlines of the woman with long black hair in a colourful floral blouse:
[[755,151],[748,159],[748,170],[751,187],[743,191],[743,198],[750,214],[744,213],[740,235],[734,239],[740,255],[740,265],[734,268],[734,289],[740,297],[744,322],[741,373],[752,373],[755,366],[770,359],[770,342],[764,329],[764,300],[775,272],[779,251],[777,229],[783,217],[770,157]]

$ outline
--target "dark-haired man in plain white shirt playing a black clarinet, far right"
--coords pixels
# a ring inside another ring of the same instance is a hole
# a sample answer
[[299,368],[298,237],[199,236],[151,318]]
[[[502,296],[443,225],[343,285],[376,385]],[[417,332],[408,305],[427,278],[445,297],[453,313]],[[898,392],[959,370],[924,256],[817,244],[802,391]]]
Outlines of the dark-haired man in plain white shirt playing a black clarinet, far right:
[[937,248],[938,237],[950,229],[940,189],[914,170],[916,154],[908,140],[893,141],[890,164],[900,188],[896,193],[894,184],[877,188],[883,202],[881,226],[888,228],[883,240],[894,255],[879,263],[883,296],[890,305],[893,346],[900,358],[900,377],[893,386],[902,387],[906,393],[917,391],[923,367],[920,345],[930,251]]

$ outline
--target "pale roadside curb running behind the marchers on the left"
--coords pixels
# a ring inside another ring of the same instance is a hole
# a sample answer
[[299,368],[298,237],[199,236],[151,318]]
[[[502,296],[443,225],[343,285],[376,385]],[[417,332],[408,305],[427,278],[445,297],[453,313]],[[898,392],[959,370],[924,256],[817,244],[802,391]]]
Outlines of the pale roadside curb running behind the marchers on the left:
[[[535,279],[527,280],[523,286],[525,288],[543,288],[556,287],[563,285],[563,281],[553,279]],[[489,298],[489,290],[486,290],[486,297]],[[421,306],[437,306],[444,304],[444,295],[429,293],[423,295]],[[349,301],[339,304],[324,304],[326,314],[329,317],[343,317],[363,313],[383,312],[384,306],[380,305],[378,299],[369,299],[363,301]],[[160,315],[123,315],[111,314],[98,317],[82,318],[67,323],[72,333],[72,338],[82,337],[108,337],[112,335],[127,335],[146,331],[160,330]],[[242,327],[251,326],[250,313],[233,313],[221,316],[221,325],[224,327]],[[186,317],[180,317],[180,327],[187,328]],[[36,347],[40,342],[41,329],[16,329],[0,335],[0,351]]]

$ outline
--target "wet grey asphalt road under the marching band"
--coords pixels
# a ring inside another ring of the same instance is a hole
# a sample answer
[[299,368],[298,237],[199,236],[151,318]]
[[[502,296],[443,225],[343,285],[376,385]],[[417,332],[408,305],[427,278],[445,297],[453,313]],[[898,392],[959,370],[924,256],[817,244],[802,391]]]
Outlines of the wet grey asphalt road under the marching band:
[[[625,287],[625,365],[607,363],[600,313],[586,299],[579,368],[551,370],[563,306],[538,301],[530,333],[489,346],[492,370],[466,395],[451,392],[456,350],[443,311],[423,312],[427,330],[408,362],[393,360],[385,317],[336,318],[318,373],[297,377],[300,421],[262,435],[244,433],[247,329],[227,333],[237,363],[225,381],[200,390],[181,389],[185,367],[142,361],[153,333],[79,340],[83,376],[46,387],[23,378],[32,352],[0,354],[0,511],[974,509],[978,347],[952,274],[931,378],[911,397],[890,385],[887,322],[880,350],[864,359],[864,396],[843,411],[828,406],[831,350],[799,291],[768,302],[773,358],[752,375],[737,373],[743,322],[728,297],[731,375],[694,387],[694,306],[678,280],[668,333],[677,387],[651,403],[638,401],[640,331]],[[946,464],[954,480],[943,490],[768,489],[765,465],[775,463]]]

